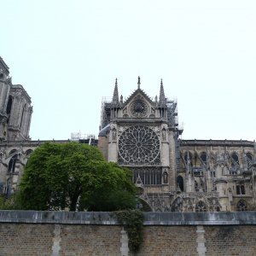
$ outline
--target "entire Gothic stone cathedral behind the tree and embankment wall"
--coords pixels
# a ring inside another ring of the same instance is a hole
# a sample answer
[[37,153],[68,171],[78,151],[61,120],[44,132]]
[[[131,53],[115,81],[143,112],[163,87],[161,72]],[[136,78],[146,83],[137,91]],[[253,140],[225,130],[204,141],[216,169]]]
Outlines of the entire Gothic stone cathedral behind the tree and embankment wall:
[[[45,141],[32,141],[32,102],[20,84],[12,84],[0,57],[0,194],[19,189],[32,151]],[[256,209],[256,143],[243,140],[183,140],[177,102],[150,98],[141,88],[127,99],[102,102],[97,145],[105,159],[127,167],[139,190],[143,209],[154,212],[216,212]],[[68,141],[55,141],[67,143]]]

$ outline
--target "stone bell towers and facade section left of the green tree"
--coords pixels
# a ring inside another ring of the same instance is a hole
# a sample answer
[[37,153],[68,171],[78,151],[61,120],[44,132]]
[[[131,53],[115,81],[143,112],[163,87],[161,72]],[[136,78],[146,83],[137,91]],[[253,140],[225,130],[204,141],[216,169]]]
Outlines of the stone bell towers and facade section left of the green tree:
[[[12,84],[9,67],[0,57],[0,194],[14,192],[32,148],[31,98],[20,84]],[[11,142],[11,143],[10,143]]]

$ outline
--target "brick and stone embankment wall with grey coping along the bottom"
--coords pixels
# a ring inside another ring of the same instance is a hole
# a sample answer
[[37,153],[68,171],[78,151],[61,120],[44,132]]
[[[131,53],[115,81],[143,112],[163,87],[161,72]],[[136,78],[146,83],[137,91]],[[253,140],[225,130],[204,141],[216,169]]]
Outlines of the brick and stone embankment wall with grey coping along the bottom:
[[[111,212],[0,211],[0,255],[133,255]],[[146,212],[136,255],[255,255],[256,212]]]

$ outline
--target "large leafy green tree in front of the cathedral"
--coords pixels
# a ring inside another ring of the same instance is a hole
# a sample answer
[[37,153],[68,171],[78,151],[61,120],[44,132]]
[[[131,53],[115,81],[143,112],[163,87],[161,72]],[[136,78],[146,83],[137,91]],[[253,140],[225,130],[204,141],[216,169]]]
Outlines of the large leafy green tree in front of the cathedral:
[[108,163],[96,147],[44,143],[30,156],[18,193],[26,210],[115,211],[136,206],[131,171]]

